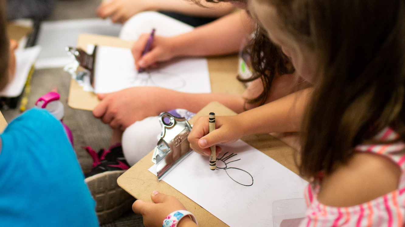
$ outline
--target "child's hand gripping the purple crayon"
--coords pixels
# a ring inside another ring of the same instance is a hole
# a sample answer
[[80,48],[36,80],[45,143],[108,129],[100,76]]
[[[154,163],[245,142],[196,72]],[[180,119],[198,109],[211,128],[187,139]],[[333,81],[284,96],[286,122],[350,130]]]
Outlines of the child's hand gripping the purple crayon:
[[136,70],[147,67],[156,67],[157,63],[168,61],[176,57],[172,37],[155,36],[148,53],[142,56],[150,34],[145,33],[132,46],[132,55],[135,59]]

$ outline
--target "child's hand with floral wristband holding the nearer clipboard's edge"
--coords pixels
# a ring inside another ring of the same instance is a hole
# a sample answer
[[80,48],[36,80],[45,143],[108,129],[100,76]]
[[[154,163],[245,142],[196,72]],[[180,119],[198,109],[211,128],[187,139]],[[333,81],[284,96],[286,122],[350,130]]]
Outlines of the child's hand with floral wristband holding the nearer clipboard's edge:
[[[171,212],[176,210],[186,210],[183,204],[172,195],[165,195],[158,191],[153,191],[151,197],[153,202],[155,202],[154,204],[143,202],[142,200],[136,200],[132,205],[132,210],[136,214],[142,214],[143,225],[145,225],[145,227],[161,227],[163,220]],[[180,224],[183,220],[186,221],[186,217],[181,219],[177,226],[181,226]]]

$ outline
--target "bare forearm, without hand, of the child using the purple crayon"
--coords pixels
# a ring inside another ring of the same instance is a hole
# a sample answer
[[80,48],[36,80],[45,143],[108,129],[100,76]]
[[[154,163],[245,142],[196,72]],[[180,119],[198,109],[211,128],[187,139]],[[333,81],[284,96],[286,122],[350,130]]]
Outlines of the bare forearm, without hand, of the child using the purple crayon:
[[177,56],[213,56],[236,53],[255,29],[245,11],[226,15],[192,32],[173,37]]

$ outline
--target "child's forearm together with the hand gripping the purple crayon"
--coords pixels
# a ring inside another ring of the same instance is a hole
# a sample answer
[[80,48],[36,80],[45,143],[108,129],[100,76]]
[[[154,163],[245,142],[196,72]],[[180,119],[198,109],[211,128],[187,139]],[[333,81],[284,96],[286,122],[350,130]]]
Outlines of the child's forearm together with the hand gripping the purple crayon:
[[241,42],[255,29],[246,11],[235,12],[174,37],[155,36],[151,50],[141,57],[149,34],[143,34],[132,46],[136,68],[149,67],[180,56],[213,56],[236,53]]

